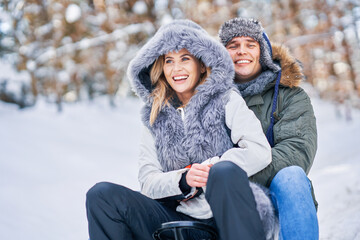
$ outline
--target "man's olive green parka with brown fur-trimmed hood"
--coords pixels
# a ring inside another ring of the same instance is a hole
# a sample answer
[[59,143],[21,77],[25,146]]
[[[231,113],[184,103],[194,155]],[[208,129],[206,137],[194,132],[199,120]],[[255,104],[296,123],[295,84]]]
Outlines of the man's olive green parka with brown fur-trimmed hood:
[[[304,78],[301,66],[286,47],[275,44],[272,47],[273,59],[280,62],[282,71],[274,114],[272,163],[250,178],[266,187],[281,169],[288,166],[300,166],[308,174],[317,149],[314,111],[309,96],[299,87]],[[275,80],[261,94],[244,98],[260,120],[264,133],[270,125],[274,87]],[[314,202],[317,205],[315,198]]]

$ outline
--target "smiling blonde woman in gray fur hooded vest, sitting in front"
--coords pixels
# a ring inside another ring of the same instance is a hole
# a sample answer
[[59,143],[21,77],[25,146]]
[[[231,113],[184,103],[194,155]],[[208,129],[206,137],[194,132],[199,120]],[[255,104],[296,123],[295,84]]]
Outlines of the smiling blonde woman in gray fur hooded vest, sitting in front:
[[223,240],[265,239],[256,208],[269,213],[271,204],[248,176],[271,162],[270,146],[233,88],[226,49],[196,23],[174,21],[138,52],[128,75],[145,102],[141,193],[112,183],[90,189],[90,238],[151,239],[161,223],[197,220]]

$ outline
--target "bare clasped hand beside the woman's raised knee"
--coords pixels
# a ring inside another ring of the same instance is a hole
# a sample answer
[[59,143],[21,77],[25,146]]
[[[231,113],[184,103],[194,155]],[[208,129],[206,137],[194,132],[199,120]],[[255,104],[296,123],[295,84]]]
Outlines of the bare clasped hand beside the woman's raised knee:
[[194,163],[186,174],[186,182],[190,187],[205,187],[212,164]]

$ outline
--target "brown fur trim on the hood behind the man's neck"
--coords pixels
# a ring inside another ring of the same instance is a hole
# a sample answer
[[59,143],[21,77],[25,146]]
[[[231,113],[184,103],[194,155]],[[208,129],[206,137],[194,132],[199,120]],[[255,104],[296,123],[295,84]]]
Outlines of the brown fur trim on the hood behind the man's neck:
[[281,65],[280,84],[287,87],[298,87],[305,79],[301,63],[296,60],[287,47],[281,44],[272,43],[273,60]]

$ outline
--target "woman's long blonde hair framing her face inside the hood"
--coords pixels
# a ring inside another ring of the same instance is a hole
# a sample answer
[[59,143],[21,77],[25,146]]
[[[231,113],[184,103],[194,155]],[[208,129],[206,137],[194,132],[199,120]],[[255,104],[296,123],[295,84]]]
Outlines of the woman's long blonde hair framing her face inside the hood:
[[[164,107],[165,105],[169,106],[169,100],[175,94],[175,91],[166,81],[163,70],[164,61],[165,61],[164,55],[158,57],[154,62],[154,65],[150,71],[151,85],[153,87],[153,91],[151,92],[153,103],[150,112],[150,125],[153,125],[162,107]],[[200,65],[204,65],[204,63],[201,60],[199,60],[199,62]],[[200,80],[197,86],[205,82],[205,79],[208,76],[210,76],[210,72],[211,72],[210,68],[206,67],[206,71],[200,74]]]

